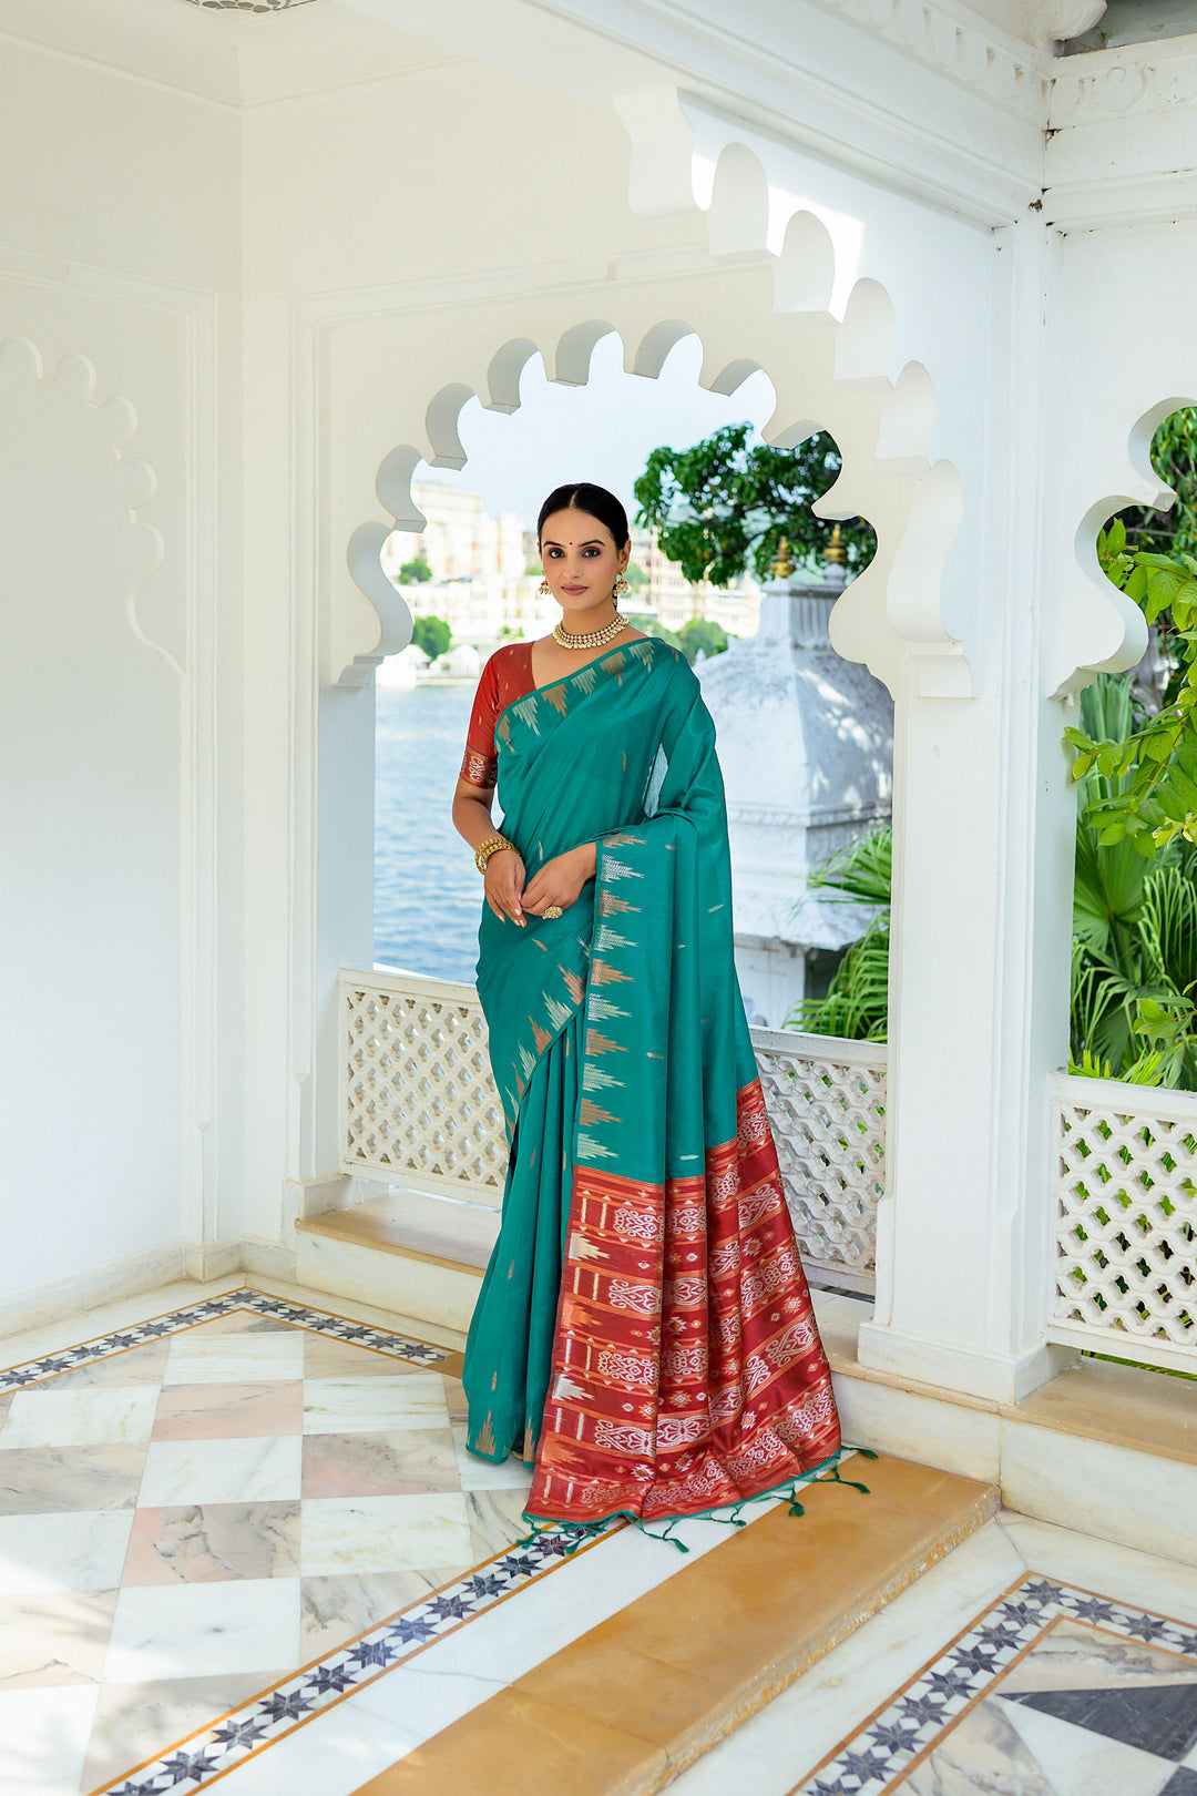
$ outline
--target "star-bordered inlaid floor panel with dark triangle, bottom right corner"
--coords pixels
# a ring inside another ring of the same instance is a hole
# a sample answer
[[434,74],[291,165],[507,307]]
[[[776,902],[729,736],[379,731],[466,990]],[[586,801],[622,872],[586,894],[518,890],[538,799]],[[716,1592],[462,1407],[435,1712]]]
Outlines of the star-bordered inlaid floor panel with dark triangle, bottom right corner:
[[1197,1796],[1197,1631],[1028,1577],[791,1796]]

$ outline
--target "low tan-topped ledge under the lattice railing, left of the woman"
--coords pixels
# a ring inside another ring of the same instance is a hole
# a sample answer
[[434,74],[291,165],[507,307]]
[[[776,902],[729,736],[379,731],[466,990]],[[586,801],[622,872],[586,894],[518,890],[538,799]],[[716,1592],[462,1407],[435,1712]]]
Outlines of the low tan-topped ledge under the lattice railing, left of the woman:
[[296,1281],[465,1333],[499,1212],[395,1189],[296,1223]]

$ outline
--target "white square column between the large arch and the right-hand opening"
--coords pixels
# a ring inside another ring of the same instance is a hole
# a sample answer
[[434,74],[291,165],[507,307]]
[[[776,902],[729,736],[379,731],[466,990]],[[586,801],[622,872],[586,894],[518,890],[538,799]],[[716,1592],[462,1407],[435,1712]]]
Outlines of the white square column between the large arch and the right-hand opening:
[[978,697],[897,702],[890,1139],[860,1358],[1009,1403],[1070,1360],[1044,1338],[1046,1085],[1068,1056],[1075,794],[1043,670],[1052,248],[1034,224],[996,242],[992,458],[958,546],[983,589]]

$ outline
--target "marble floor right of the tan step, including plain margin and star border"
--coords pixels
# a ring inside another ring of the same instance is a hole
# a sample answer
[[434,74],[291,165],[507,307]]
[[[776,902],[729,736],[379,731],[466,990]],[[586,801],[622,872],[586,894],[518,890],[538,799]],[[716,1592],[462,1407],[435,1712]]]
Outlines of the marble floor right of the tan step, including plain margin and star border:
[[1197,1796],[1197,1572],[1003,1512],[669,1785],[732,1789]]

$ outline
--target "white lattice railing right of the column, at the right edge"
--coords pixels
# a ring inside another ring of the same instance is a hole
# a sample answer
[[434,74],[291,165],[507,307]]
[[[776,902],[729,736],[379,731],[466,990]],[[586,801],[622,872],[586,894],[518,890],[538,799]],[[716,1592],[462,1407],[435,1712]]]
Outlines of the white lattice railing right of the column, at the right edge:
[[1197,1092],[1052,1085],[1050,1340],[1197,1372]]

